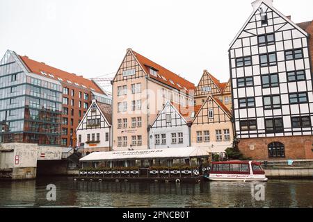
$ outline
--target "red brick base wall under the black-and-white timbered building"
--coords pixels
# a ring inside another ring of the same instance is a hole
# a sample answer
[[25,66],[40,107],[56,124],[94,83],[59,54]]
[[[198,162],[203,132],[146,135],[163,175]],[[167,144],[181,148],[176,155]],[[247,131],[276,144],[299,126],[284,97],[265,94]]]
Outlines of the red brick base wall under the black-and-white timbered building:
[[[268,144],[271,142],[284,144],[285,158],[268,158]],[[253,150],[252,146],[254,146]],[[246,157],[252,157],[253,160],[313,159],[312,148],[313,135],[240,139],[239,142],[241,153]]]

